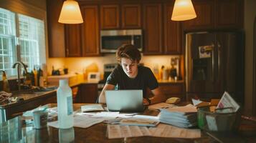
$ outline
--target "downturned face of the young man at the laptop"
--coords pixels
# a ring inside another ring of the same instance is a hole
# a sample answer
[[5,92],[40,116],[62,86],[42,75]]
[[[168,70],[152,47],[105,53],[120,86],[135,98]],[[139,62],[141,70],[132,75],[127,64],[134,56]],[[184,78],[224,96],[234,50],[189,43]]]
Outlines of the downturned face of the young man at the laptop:
[[131,59],[121,58],[121,66],[123,71],[130,78],[135,78],[138,74],[138,63],[137,61],[132,61]]

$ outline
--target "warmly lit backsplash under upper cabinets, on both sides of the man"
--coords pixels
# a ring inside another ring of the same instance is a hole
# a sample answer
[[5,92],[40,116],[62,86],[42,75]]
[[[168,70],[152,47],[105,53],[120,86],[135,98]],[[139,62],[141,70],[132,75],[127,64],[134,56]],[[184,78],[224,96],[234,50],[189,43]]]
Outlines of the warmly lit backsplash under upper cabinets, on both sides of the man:
[[[171,66],[171,58],[180,56],[142,56],[141,63],[145,66],[150,67],[152,70],[154,67],[158,66]],[[78,57],[78,58],[49,58],[47,71],[48,75],[52,73],[52,66],[54,69],[68,68],[69,73],[83,73],[86,68],[98,66],[98,71],[103,74],[104,64],[117,63],[115,59],[115,54],[105,54],[105,56],[97,57]]]

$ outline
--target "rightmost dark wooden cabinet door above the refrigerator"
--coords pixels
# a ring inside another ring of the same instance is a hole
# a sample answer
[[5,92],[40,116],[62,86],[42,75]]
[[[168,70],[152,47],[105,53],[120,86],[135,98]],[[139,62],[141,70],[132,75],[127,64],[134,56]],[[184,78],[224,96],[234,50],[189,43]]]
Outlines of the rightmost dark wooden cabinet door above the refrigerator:
[[217,28],[242,29],[243,7],[242,0],[218,0]]

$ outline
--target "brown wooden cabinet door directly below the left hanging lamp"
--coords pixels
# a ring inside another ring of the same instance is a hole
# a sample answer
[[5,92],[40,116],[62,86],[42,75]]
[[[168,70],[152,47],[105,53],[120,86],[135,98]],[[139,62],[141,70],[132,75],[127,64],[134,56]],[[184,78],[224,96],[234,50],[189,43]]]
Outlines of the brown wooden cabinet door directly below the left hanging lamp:
[[81,24],[65,24],[66,56],[81,56]]

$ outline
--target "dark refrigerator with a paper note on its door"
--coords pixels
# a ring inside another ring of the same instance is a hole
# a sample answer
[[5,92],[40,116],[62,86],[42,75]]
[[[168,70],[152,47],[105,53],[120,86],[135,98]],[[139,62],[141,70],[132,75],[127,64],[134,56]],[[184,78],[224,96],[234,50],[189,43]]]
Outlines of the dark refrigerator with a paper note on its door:
[[244,34],[240,31],[186,34],[186,98],[244,102]]

